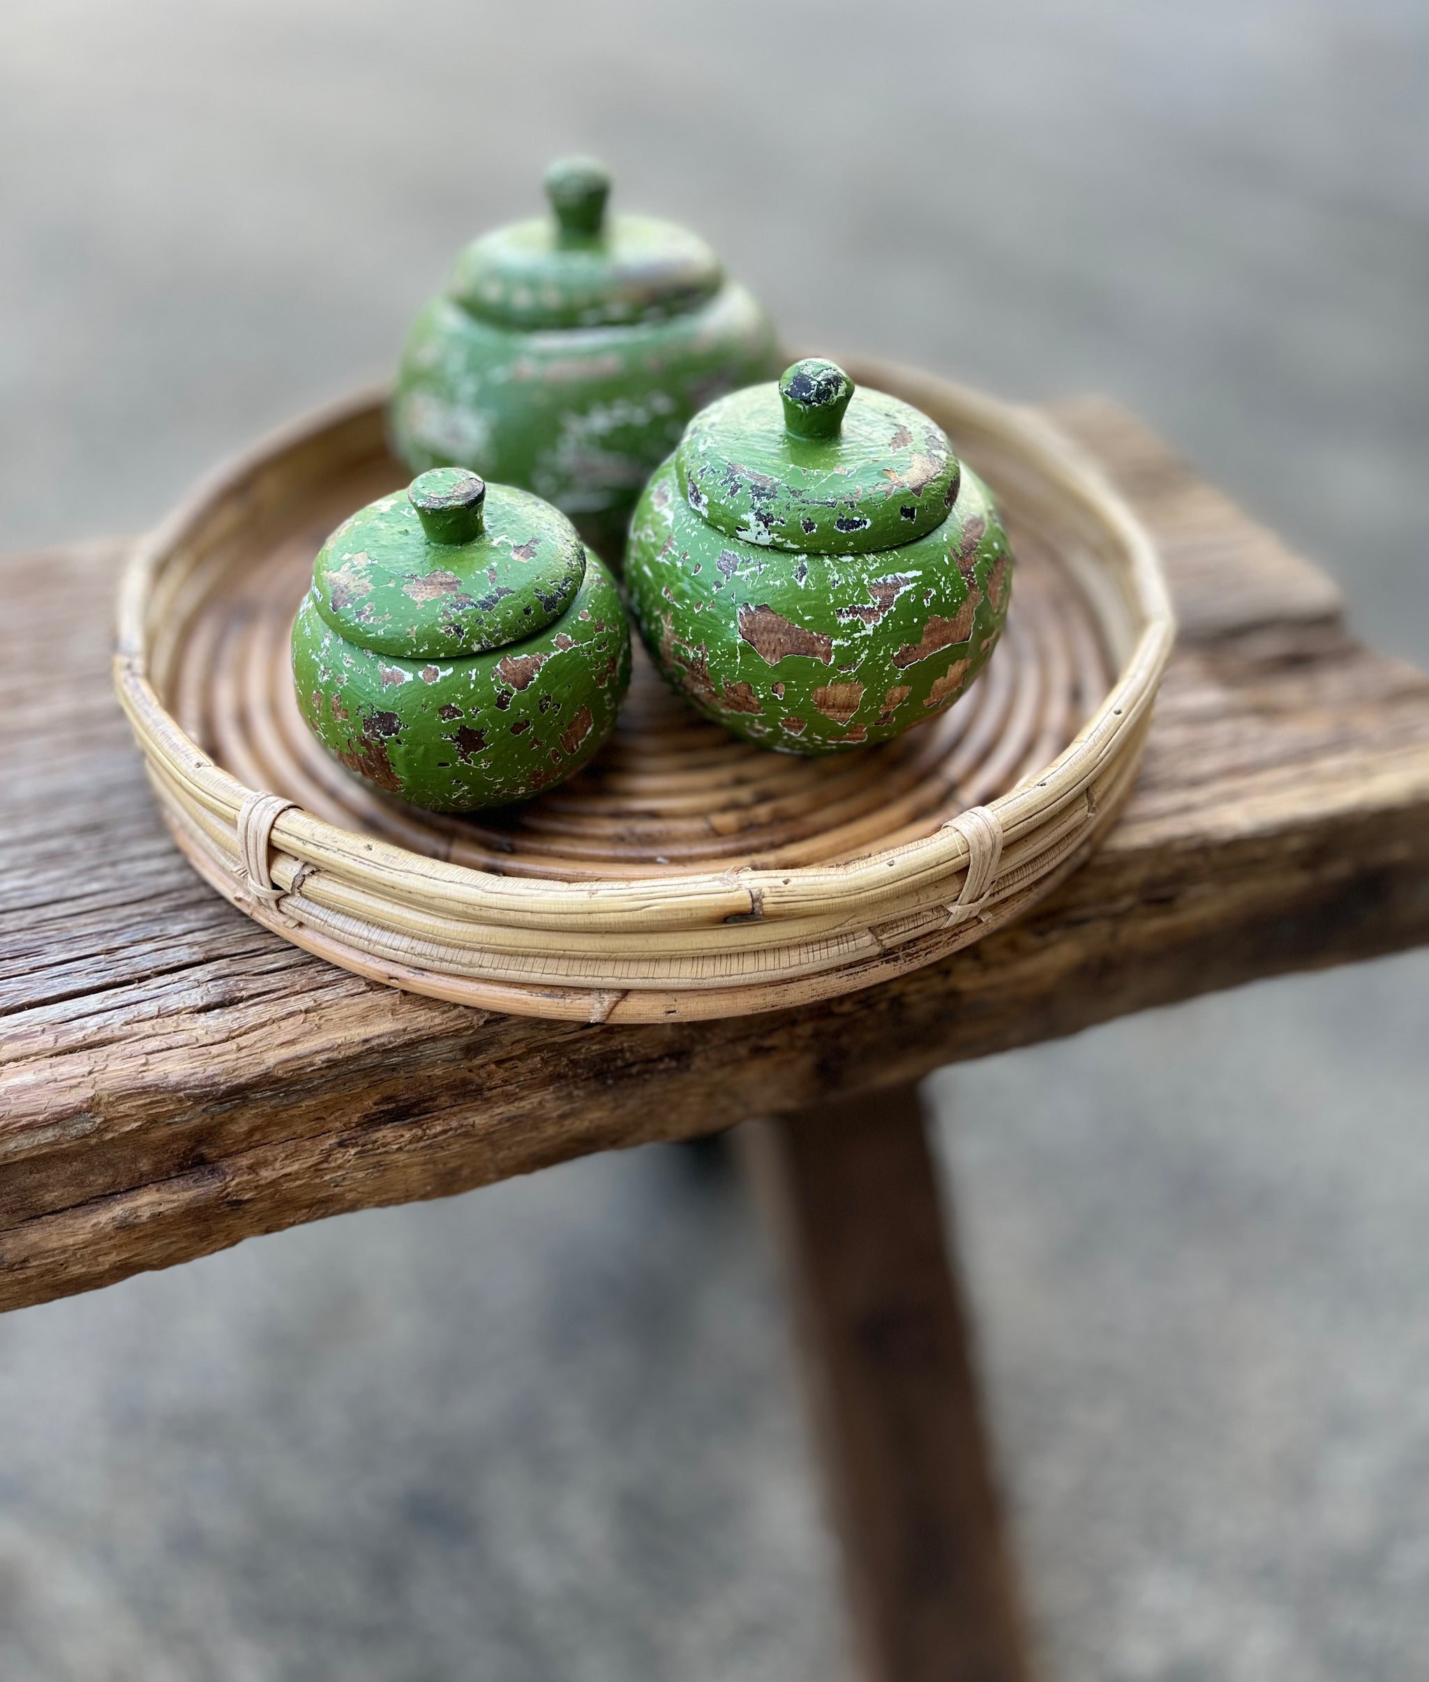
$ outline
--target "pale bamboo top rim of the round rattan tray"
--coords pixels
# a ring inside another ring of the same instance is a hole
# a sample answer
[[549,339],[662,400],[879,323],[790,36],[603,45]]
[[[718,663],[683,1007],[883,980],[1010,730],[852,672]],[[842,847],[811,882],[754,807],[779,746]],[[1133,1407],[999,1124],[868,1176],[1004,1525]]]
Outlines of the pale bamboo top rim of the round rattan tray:
[[[852,360],[852,358],[851,358]],[[1118,747],[1142,735],[1175,637],[1170,595],[1157,548],[1140,520],[1101,468],[1056,426],[1026,405],[1004,404],[952,380],[891,363],[866,363],[901,387],[933,387],[970,422],[1004,439],[1034,463],[1047,483],[1098,521],[1120,545],[1126,594],[1140,631],[1110,691],[1081,733],[1032,782],[989,802],[1007,844],[1034,833],[1066,811],[1106,770]],[[309,446],[348,424],[370,420],[383,404],[385,387],[370,387],[266,436],[217,468],[163,520],[140,538],[124,569],[118,607],[114,656],[116,690],[140,742],[158,755],[173,792],[215,817],[235,824],[252,791],[217,765],[166,711],[150,676],[148,604],[170,558],[202,533],[205,521],[237,503],[247,518],[262,518],[261,479],[279,456]],[[230,516],[232,520],[232,516]],[[222,533],[219,533],[222,535]],[[965,871],[970,846],[965,833],[945,826],[935,834],[849,863],[800,865],[787,870],[738,866],[605,881],[562,881],[503,876],[496,871],[425,858],[393,843],[338,828],[311,812],[289,807],[272,828],[272,844],[313,870],[331,870],[358,888],[439,908],[457,920],[506,928],[659,932],[714,928],[726,920],[755,917],[794,927],[810,915],[839,907],[841,920],[857,923],[906,905],[910,897],[945,900],[948,880]]]

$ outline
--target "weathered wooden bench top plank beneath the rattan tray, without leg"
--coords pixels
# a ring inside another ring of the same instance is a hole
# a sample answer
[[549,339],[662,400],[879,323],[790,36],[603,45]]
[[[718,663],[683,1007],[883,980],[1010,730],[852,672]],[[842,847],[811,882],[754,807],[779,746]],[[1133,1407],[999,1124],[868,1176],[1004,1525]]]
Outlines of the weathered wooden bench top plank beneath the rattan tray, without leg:
[[108,686],[118,545],[0,563],[0,1307],[1429,939],[1429,680],[1135,422],[1061,419],[1182,617],[1121,822],[1024,923],[757,1018],[519,1021],[286,947],[153,811]]

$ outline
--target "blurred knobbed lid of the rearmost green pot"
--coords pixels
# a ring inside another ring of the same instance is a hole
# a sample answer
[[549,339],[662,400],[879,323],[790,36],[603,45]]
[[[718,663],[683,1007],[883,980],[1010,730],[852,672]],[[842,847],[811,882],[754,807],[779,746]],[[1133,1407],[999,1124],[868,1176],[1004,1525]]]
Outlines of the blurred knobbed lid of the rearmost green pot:
[[482,234],[457,257],[451,296],[498,326],[627,326],[693,309],[720,289],[714,252],[688,229],[607,215],[610,173],[592,158],[546,170],[551,215]]

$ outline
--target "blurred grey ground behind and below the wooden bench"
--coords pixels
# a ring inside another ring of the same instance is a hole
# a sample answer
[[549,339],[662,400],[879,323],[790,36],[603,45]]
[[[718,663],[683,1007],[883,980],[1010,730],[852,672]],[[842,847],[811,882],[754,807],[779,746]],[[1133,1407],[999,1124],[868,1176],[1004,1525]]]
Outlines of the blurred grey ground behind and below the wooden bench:
[[[1422,0],[5,0],[0,548],[383,375],[578,148],[794,340],[1120,397],[1429,663],[1426,130]],[[933,1083],[1049,1679],[1429,1679],[1426,1002],[1421,954]],[[846,1667],[720,1152],[0,1320],[5,1682]]]

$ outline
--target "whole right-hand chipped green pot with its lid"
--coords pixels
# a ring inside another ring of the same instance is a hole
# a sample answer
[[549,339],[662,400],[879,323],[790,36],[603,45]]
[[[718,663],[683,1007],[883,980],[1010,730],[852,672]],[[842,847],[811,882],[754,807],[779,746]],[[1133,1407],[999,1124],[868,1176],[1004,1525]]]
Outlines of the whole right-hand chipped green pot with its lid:
[[669,683],[792,754],[884,742],[950,706],[1010,587],[997,506],[941,427],[817,360],[691,420],[625,553]]

